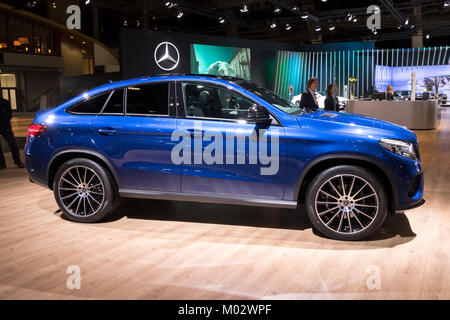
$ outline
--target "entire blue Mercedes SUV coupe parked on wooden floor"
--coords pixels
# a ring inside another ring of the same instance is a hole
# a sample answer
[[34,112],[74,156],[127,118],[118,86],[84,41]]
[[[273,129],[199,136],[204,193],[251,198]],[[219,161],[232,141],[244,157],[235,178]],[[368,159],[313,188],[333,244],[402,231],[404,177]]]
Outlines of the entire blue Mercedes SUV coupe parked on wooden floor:
[[63,215],[96,222],[119,197],[298,208],[359,240],[421,205],[416,135],[303,109],[251,82],[203,75],[108,83],[39,113],[26,167]]

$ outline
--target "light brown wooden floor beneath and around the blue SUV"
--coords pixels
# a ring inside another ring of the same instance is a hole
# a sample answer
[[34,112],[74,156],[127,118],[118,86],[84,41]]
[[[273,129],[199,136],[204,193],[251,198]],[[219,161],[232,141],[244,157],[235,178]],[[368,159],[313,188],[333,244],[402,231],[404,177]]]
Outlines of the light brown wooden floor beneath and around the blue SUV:
[[427,203],[363,242],[320,237],[295,210],[168,201],[73,223],[25,170],[2,170],[0,298],[450,299],[450,109],[418,135]]

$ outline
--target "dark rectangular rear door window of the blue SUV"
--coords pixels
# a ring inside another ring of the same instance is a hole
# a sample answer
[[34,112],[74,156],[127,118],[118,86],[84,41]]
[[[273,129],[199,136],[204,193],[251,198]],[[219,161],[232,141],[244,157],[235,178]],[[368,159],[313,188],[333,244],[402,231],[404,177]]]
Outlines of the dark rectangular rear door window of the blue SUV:
[[169,114],[169,83],[152,83],[127,88],[127,114]]

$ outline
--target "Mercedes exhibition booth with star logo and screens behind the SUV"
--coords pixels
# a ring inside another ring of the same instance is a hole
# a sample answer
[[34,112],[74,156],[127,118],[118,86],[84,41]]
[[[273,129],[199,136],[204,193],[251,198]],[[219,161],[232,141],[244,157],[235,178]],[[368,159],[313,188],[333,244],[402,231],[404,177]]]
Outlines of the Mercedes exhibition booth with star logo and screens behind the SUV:
[[[338,98],[349,99],[345,111],[409,129],[435,129],[440,106],[450,95],[448,47],[376,49],[375,42],[300,46],[131,29],[122,30],[121,47],[124,78],[228,75],[292,100],[305,90],[308,79],[316,77],[319,95],[333,83]],[[165,53],[176,57],[176,64],[158,63]],[[388,86],[393,88],[392,101],[384,94]]]

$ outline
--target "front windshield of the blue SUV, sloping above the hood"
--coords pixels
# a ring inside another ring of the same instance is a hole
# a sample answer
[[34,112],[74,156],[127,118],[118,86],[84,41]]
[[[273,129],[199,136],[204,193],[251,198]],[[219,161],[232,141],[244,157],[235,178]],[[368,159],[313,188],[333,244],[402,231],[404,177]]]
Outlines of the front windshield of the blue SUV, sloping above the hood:
[[260,87],[254,83],[248,81],[237,81],[236,84],[250,91],[251,93],[256,94],[257,96],[261,97],[262,99],[264,99],[277,109],[284,111],[286,113],[292,115],[299,115],[311,113],[314,111],[312,109],[300,108],[296,104],[284,99],[283,97],[277,95],[276,93],[267,90],[263,87]]

